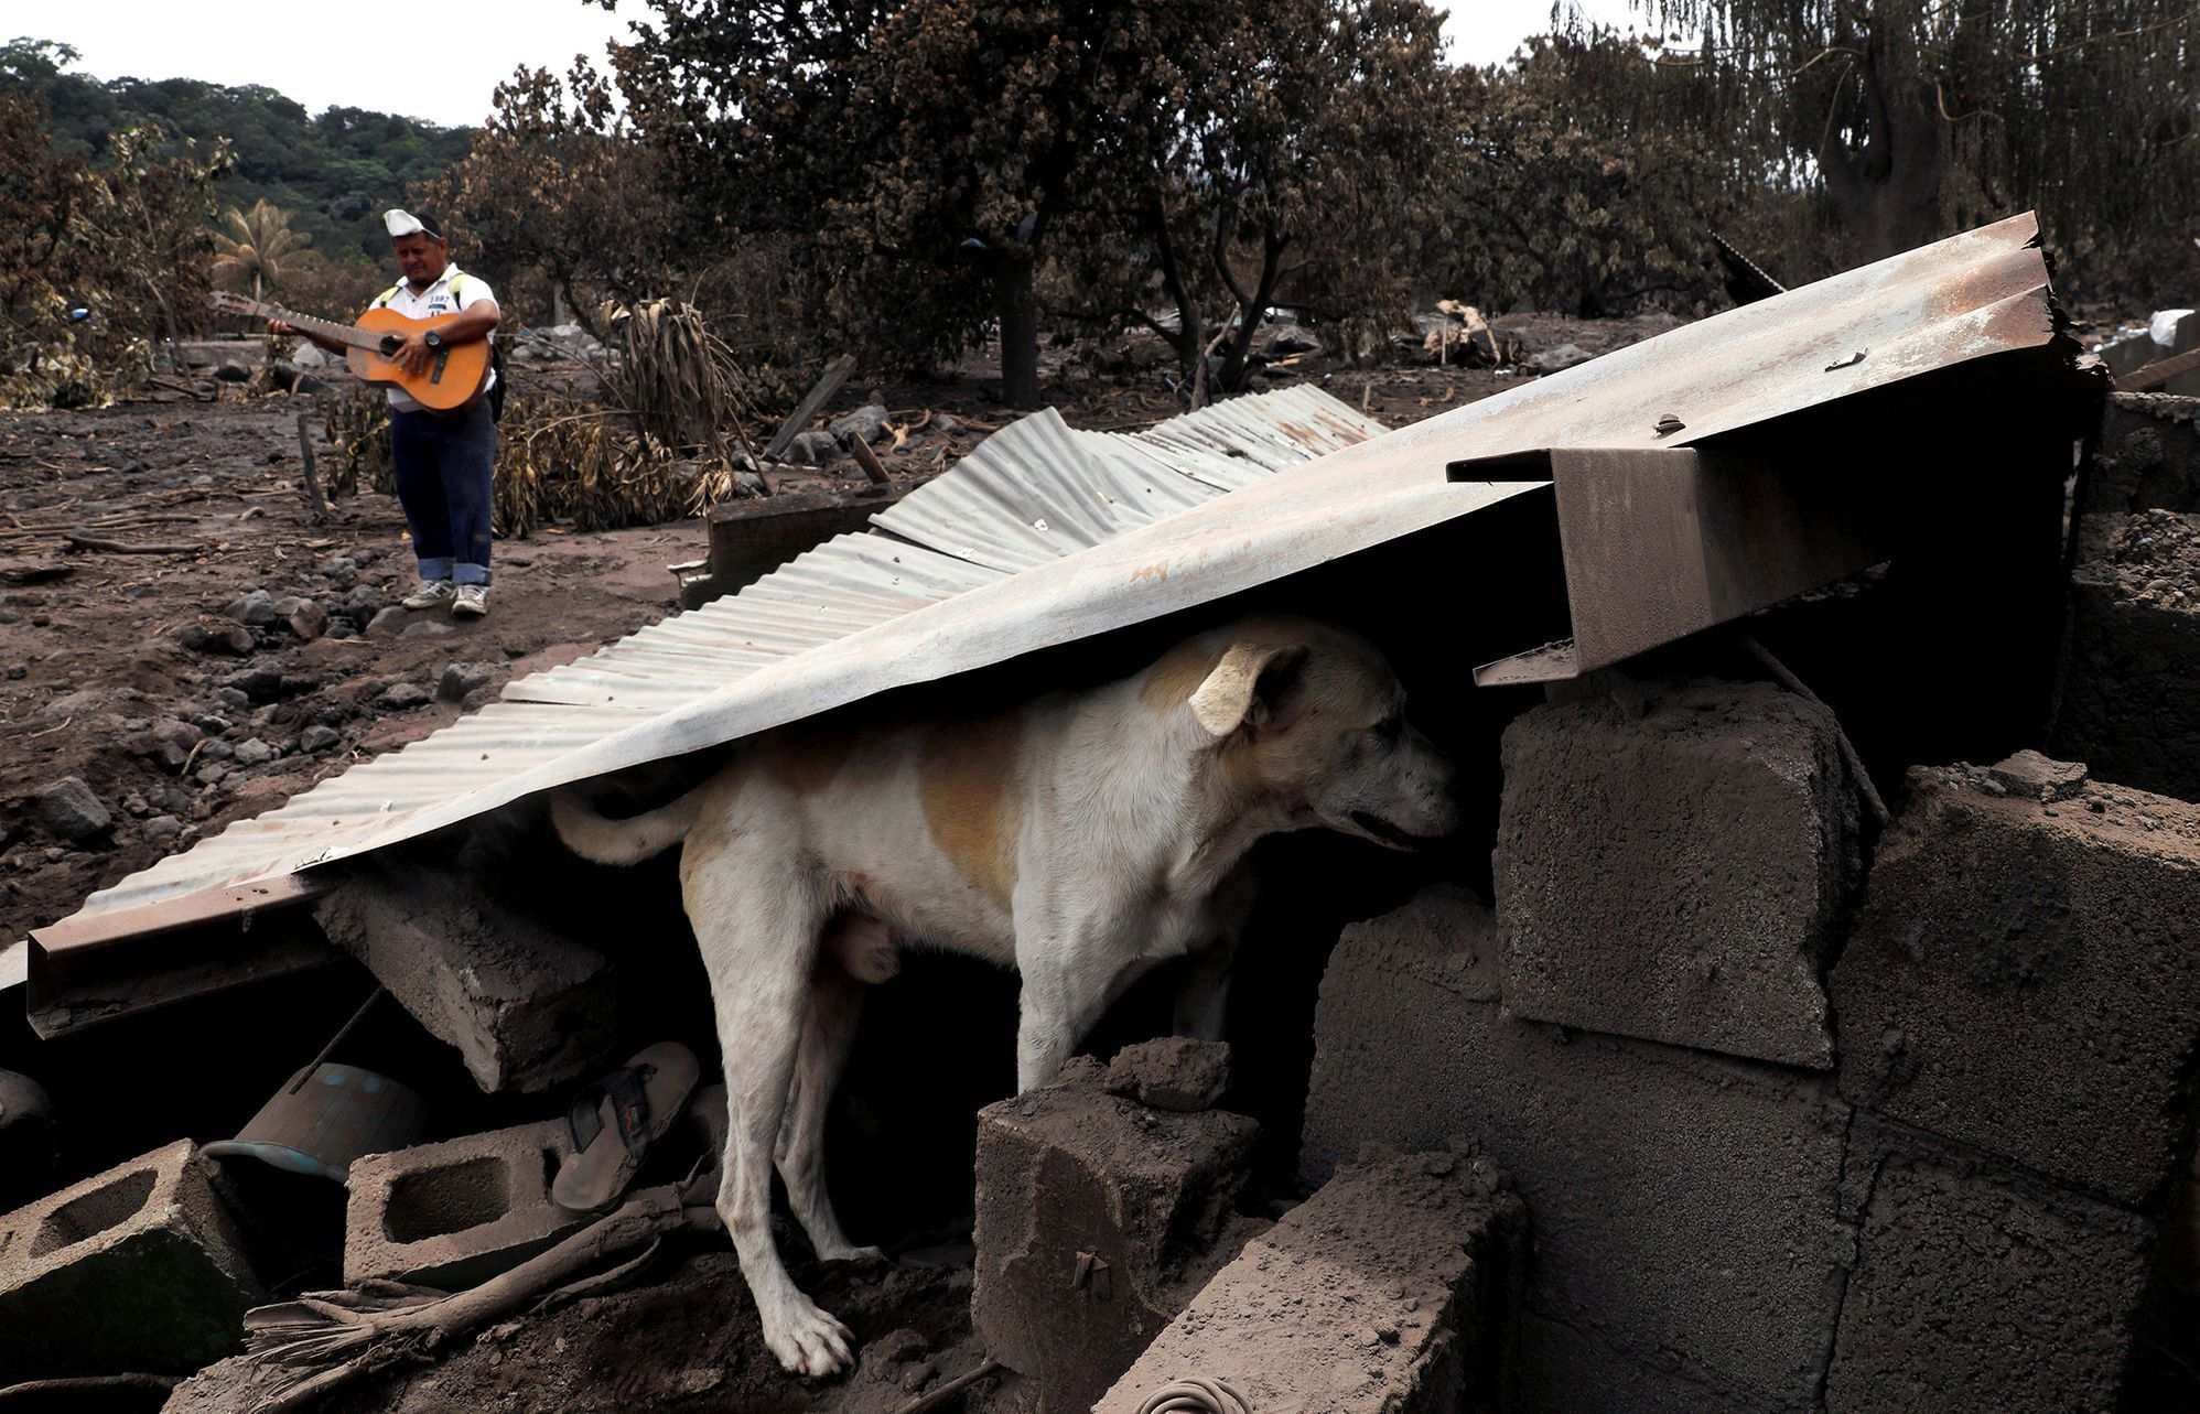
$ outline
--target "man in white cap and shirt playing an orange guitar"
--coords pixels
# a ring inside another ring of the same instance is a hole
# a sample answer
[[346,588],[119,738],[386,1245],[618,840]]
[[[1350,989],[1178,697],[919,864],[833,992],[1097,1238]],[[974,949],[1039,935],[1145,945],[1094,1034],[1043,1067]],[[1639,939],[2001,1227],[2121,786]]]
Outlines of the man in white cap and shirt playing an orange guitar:
[[[433,220],[409,211],[385,211],[389,244],[405,279],[389,286],[374,306],[411,319],[458,312],[431,330],[407,334],[387,356],[405,374],[425,374],[444,350],[493,339],[497,299],[486,279],[451,264],[451,244]],[[273,334],[299,334],[343,356],[343,343],[310,328],[268,319]],[[398,504],[411,528],[420,587],[405,596],[407,609],[449,605],[453,616],[488,614],[488,523],[493,506],[497,422],[488,389],[495,372],[464,407],[427,411],[411,394],[389,385],[389,460],[396,471]]]

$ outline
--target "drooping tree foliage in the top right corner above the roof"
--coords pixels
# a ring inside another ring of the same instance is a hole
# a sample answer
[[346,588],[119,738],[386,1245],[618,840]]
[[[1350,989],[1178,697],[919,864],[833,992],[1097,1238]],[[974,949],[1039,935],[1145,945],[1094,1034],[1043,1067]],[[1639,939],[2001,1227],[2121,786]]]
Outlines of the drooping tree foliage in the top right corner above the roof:
[[2191,255],[2200,7],[2187,0],[1637,2],[1703,33],[1712,134],[1736,176],[1815,189],[1844,257],[2024,207],[2097,277]]

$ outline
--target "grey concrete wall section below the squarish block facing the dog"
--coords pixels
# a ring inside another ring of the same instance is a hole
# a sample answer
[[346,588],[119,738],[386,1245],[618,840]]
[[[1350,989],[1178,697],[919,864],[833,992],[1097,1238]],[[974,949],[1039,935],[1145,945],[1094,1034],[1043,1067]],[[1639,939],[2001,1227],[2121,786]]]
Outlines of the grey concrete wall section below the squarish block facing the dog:
[[[1474,1137],[1536,1218],[1531,1313],[1729,1403],[1811,1410],[1846,1124],[1830,1078],[1509,1016],[1489,910],[1434,888],[1331,954],[1300,1168]],[[1588,1363],[1522,1368],[1531,1388],[1525,1410],[1613,1407]]]

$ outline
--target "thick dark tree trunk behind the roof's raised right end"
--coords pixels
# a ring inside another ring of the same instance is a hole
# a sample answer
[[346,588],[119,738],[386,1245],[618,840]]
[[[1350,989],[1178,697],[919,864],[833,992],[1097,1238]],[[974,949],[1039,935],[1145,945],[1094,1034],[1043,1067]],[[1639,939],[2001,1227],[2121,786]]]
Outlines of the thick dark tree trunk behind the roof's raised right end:
[[1927,79],[1888,84],[1874,55],[1863,57],[1866,139],[1852,147],[1837,125],[1826,128],[1819,169],[1841,229],[1866,259],[1885,259],[1940,231],[1940,191],[1947,183],[1947,119]]

